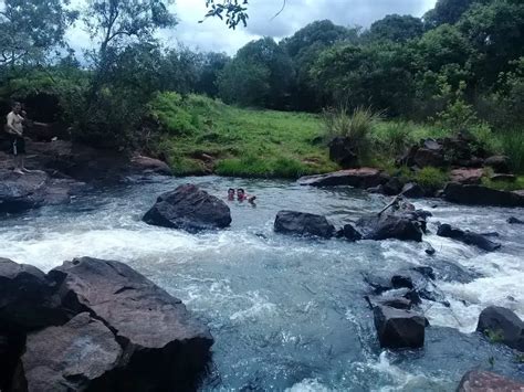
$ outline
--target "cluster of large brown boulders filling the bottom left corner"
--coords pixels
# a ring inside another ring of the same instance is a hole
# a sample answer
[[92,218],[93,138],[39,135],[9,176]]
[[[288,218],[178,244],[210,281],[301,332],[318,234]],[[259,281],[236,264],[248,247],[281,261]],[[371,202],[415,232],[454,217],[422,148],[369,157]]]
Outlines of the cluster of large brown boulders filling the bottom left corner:
[[0,258],[1,391],[191,391],[213,338],[128,265]]

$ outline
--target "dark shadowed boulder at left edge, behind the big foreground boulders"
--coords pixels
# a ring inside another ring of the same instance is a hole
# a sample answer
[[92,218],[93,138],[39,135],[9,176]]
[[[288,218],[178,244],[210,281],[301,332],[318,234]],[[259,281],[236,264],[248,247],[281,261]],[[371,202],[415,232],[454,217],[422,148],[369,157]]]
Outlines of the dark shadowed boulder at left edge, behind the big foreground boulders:
[[0,258],[0,328],[25,332],[69,318],[43,272]]

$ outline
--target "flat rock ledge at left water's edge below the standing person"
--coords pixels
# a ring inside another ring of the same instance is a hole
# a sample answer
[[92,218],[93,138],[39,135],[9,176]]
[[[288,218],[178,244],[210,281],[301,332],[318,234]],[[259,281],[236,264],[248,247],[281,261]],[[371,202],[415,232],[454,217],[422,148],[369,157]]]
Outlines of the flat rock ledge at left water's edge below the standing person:
[[53,179],[43,171],[20,176],[0,170],[0,213],[19,213],[42,205],[69,203],[83,183]]

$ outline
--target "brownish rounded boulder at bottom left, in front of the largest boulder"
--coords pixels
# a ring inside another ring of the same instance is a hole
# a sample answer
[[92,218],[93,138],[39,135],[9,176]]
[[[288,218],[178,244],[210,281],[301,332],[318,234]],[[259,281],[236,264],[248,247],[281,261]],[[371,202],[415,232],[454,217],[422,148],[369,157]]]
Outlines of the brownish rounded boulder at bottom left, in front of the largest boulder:
[[14,377],[19,391],[117,390],[122,348],[102,321],[83,312],[61,327],[30,333]]

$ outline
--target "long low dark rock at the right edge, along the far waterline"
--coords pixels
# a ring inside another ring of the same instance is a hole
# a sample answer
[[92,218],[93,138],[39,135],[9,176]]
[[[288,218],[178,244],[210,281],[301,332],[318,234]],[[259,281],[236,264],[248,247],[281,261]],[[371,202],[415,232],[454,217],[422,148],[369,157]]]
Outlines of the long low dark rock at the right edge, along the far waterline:
[[470,205],[524,206],[524,194],[499,191],[482,186],[462,186],[450,182],[443,198],[447,201]]

